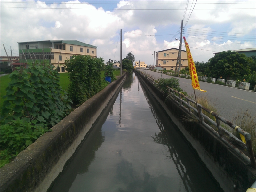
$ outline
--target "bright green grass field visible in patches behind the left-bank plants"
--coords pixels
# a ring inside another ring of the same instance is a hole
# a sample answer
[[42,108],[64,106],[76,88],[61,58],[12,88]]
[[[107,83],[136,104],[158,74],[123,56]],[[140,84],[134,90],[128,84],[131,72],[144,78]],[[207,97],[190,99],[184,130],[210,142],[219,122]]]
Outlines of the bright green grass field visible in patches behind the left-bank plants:
[[[115,76],[119,76],[120,75],[120,70],[114,70],[114,75]],[[104,71],[101,71],[100,76],[102,77],[102,80],[104,79]],[[6,95],[6,87],[8,86],[10,82],[10,78],[9,75],[6,76],[2,76],[0,77],[0,108],[2,108],[4,100],[3,96]],[[68,73],[60,73],[60,86],[62,87],[62,89],[64,91],[67,91],[68,89],[68,85],[69,85],[69,79],[68,79]],[[105,81],[103,81],[103,87],[106,87],[108,85],[108,83],[106,83]]]

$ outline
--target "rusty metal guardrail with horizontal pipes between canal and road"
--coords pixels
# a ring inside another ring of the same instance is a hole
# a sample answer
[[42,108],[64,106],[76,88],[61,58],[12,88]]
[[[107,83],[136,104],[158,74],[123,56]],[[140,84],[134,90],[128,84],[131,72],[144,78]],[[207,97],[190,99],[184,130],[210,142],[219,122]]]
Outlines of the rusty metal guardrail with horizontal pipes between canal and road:
[[[138,70],[137,70],[138,71]],[[138,71],[142,76],[144,76],[148,81],[150,81],[152,84],[156,84],[156,80],[146,74],[144,74],[141,71]],[[214,135],[219,137],[224,143],[226,143],[238,156],[242,157],[246,162],[252,165],[253,168],[256,169],[256,161],[254,158],[254,153],[252,149],[252,141],[251,141],[251,135],[250,133],[244,131],[236,124],[233,124],[232,122],[228,121],[224,117],[216,114],[215,112],[205,108],[201,104],[197,103],[196,101],[190,99],[189,97],[185,96],[184,94],[172,89],[171,87],[167,87],[169,92],[169,98],[173,100],[176,104],[178,104],[180,107],[185,109],[188,114],[195,117],[204,127],[206,127],[209,131],[211,131]],[[194,106],[191,105],[191,103],[194,104]],[[196,108],[195,108],[196,107]],[[206,113],[209,113],[211,116],[215,118],[215,121],[206,116],[204,113],[202,113],[202,110]],[[198,116],[198,113],[200,116]],[[246,144],[239,140],[236,136],[234,136],[231,132],[227,131],[225,128],[223,128],[220,124],[220,122],[223,122],[224,124],[227,124],[230,128],[236,130],[236,132],[242,134],[245,137]],[[229,138],[229,139],[228,139]],[[235,145],[232,144],[230,141],[232,140],[245,150],[249,152],[248,157],[242,150],[237,148]]]

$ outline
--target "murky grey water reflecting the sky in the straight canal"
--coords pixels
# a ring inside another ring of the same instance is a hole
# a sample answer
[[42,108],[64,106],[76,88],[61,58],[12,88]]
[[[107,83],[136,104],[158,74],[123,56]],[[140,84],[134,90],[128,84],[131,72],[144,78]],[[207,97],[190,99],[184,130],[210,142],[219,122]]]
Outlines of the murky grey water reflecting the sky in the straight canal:
[[133,73],[51,191],[222,190]]

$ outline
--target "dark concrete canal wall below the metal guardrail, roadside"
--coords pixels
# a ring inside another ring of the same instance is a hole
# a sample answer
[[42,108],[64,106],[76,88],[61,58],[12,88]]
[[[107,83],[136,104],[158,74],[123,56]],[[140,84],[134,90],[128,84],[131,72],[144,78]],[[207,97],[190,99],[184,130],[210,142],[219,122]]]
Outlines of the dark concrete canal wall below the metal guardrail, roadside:
[[136,74],[139,75],[143,86],[148,89],[173,123],[176,124],[181,134],[225,192],[244,192],[254,183],[255,169],[201,124],[182,120],[187,112],[140,73]]

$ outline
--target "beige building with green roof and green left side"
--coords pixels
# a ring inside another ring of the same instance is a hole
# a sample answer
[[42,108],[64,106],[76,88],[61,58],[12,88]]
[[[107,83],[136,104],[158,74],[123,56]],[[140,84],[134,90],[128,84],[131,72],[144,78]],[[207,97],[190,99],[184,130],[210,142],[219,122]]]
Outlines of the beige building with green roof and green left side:
[[18,44],[21,63],[49,60],[50,64],[54,65],[59,72],[66,72],[64,67],[65,60],[72,59],[73,55],[97,57],[96,46],[76,40],[29,41],[19,42]]

